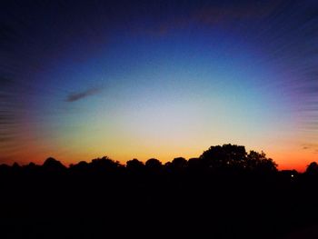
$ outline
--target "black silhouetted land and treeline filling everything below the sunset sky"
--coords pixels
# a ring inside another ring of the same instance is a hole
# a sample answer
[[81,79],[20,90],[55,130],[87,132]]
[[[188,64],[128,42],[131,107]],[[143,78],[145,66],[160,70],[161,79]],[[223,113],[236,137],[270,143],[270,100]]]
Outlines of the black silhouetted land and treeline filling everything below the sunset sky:
[[0,238],[318,238],[316,164],[277,171],[225,146],[164,165],[3,164]]

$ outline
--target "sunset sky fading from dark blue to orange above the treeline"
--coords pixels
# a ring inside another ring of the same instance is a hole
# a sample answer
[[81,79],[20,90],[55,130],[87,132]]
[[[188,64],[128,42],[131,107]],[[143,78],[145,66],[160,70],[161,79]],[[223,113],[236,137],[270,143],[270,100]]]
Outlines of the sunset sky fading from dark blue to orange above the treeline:
[[318,161],[315,1],[3,1],[0,164]]

